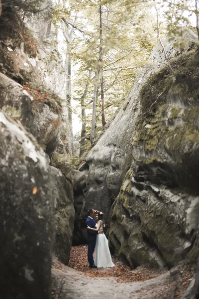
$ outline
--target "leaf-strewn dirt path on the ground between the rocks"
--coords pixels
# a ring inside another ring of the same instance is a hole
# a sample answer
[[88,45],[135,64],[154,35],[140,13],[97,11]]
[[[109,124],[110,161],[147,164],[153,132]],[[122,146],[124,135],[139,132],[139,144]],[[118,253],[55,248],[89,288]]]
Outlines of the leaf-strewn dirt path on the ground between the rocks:
[[87,246],[73,247],[70,267],[53,262],[52,299],[178,299],[193,277],[193,270],[183,265],[170,271],[143,267],[132,271],[113,262],[114,268],[90,269]]

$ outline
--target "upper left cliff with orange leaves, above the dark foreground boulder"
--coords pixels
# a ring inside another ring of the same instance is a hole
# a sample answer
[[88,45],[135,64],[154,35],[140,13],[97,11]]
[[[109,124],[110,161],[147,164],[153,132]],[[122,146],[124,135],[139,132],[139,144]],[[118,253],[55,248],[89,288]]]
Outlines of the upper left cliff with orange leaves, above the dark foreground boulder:
[[[50,7],[50,1],[47,2]],[[54,94],[54,90],[61,94],[60,84],[54,82],[60,83],[62,66],[52,71],[55,62],[48,59],[47,53],[54,48],[49,44],[44,46],[44,36],[46,39],[49,35],[46,34],[48,22],[43,24],[41,19],[30,17],[26,20],[31,28],[28,30],[19,11],[9,5],[3,5],[2,10],[0,111],[20,121],[51,157],[58,145],[62,125],[60,98]],[[42,16],[47,15],[50,16],[50,8],[46,8]],[[31,35],[33,31],[34,36]]]

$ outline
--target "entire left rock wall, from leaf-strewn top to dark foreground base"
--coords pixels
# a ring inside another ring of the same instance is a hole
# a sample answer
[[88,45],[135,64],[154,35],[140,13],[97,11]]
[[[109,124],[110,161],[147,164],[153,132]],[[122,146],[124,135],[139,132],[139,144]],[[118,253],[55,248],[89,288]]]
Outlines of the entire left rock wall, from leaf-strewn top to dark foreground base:
[[46,65],[55,53],[52,1],[42,2],[42,16],[28,11],[23,20],[22,9],[31,1],[22,8],[17,5],[23,1],[1,2],[0,290],[5,299],[50,299],[52,253],[68,263],[74,226],[67,157],[64,173],[50,160],[61,147],[64,106],[57,84],[61,69],[55,59]]

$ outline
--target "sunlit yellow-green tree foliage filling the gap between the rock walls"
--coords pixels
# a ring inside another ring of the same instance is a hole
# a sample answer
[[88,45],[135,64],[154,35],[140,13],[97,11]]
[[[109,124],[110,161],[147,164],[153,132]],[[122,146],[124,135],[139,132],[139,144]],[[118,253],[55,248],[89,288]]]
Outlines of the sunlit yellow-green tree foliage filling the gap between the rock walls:
[[[67,6],[59,3],[54,7],[54,23],[61,28],[62,18],[71,23],[78,15],[75,37],[70,44],[70,59],[76,68],[73,73],[72,96],[80,106],[88,80],[93,71],[84,108],[87,110],[87,133],[91,129],[94,91],[94,71],[103,68],[104,100],[106,122],[120,107],[128,95],[137,71],[144,66],[152,48],[157,42],[155,19],[151,13],[152,5],[147,1],[74,1]],[[147,3],[147,6],[146,6]],[[77,5],[78,4],[78,5]],[[99,32],[99,5],[102,5],[102,40]],[[66,8],[67,7],[67,8]],[[152,26],[149,27],[148,23]],[[72,28],[72,26],[70,26]],[[144,29],[143,29],[144,28]],[[70,29],[71,30],[71,29]],[[102,47],[103,59],[99,63],[99,49]],[[81,116],[80,116],[81,118]],[[101,104],[98,92],[96,132],[100,134]]]

